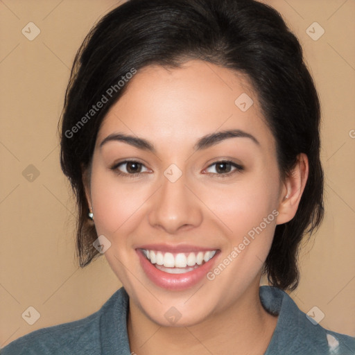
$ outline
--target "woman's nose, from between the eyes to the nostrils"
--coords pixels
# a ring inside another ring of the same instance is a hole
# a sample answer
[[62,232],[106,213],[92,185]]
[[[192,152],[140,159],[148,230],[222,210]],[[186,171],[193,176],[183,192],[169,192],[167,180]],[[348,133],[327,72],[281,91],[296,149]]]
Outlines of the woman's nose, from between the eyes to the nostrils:
[[186,186],[184,174],[175,182],[165,176],[150,201],[149,223],[168,234],[190,230],[202,223],[200,200]]

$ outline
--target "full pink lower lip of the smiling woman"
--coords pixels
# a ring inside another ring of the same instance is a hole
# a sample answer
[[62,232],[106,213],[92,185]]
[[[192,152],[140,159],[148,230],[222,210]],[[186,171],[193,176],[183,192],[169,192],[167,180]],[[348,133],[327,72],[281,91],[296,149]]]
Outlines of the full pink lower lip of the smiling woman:
[[146,259],[140,250],[136,250],[136,252],[138,254],[141,267],[143,268],[144,272],[146,272],[146,275],[150,281],[154,282],[159,287],[171,291],[186,290],[187,288],[198,284],[198,282],[206,277],[207,272],[211,270],[216,259],[215,255],[202,266],[199,266],[198,268],[189,272],[184,272],[183,274],[168,274],[168,272],[164,272],[155,268],[155,266],[150,263],[148,259]]

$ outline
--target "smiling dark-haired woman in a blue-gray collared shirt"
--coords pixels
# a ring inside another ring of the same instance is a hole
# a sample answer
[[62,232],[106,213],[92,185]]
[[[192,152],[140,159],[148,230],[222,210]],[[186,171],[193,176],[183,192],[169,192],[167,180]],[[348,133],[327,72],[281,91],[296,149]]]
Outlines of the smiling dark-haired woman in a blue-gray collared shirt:
[[272,8],[114,9],[73,64],[60,158],[80,266],[105,254],[123,288],[2,354],[354,354],[284,292],[323,216],[319,124],[300,44]]

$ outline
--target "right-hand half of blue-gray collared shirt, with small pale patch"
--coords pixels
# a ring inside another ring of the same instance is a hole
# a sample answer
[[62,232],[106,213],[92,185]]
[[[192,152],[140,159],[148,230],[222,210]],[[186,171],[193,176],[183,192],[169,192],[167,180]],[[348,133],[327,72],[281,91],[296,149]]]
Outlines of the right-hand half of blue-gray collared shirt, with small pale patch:
[[355,354],[355,338],[324,329],[315,321],[313,313],[302,312],[286,292],[261,286],[259,294],[264,308],[279,315],[265,355]]

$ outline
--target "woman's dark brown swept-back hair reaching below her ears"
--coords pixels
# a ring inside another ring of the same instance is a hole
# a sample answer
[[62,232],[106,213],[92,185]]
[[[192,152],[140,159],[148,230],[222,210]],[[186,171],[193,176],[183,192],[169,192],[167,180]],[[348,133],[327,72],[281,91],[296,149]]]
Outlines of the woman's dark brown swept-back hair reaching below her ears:
[[[85,38],[65,96],[60,154],[77,199],[80,266],[98,255],[82,168],[90,166],[107,110],[128,87],[132,69],[179,67],[191,59],[248,76],[275,137],[283,176],[295,166],[297,155],[309,158],[300,206],[293,220],[277,225],[263,270],[272,285],[294,289],[300,241],[320,225],[324,213],[320,103],[297,38],[275,9],[254,0],[130,0],[105,15]],[[100,110],[90,111],[103,96],[107,101]]]

